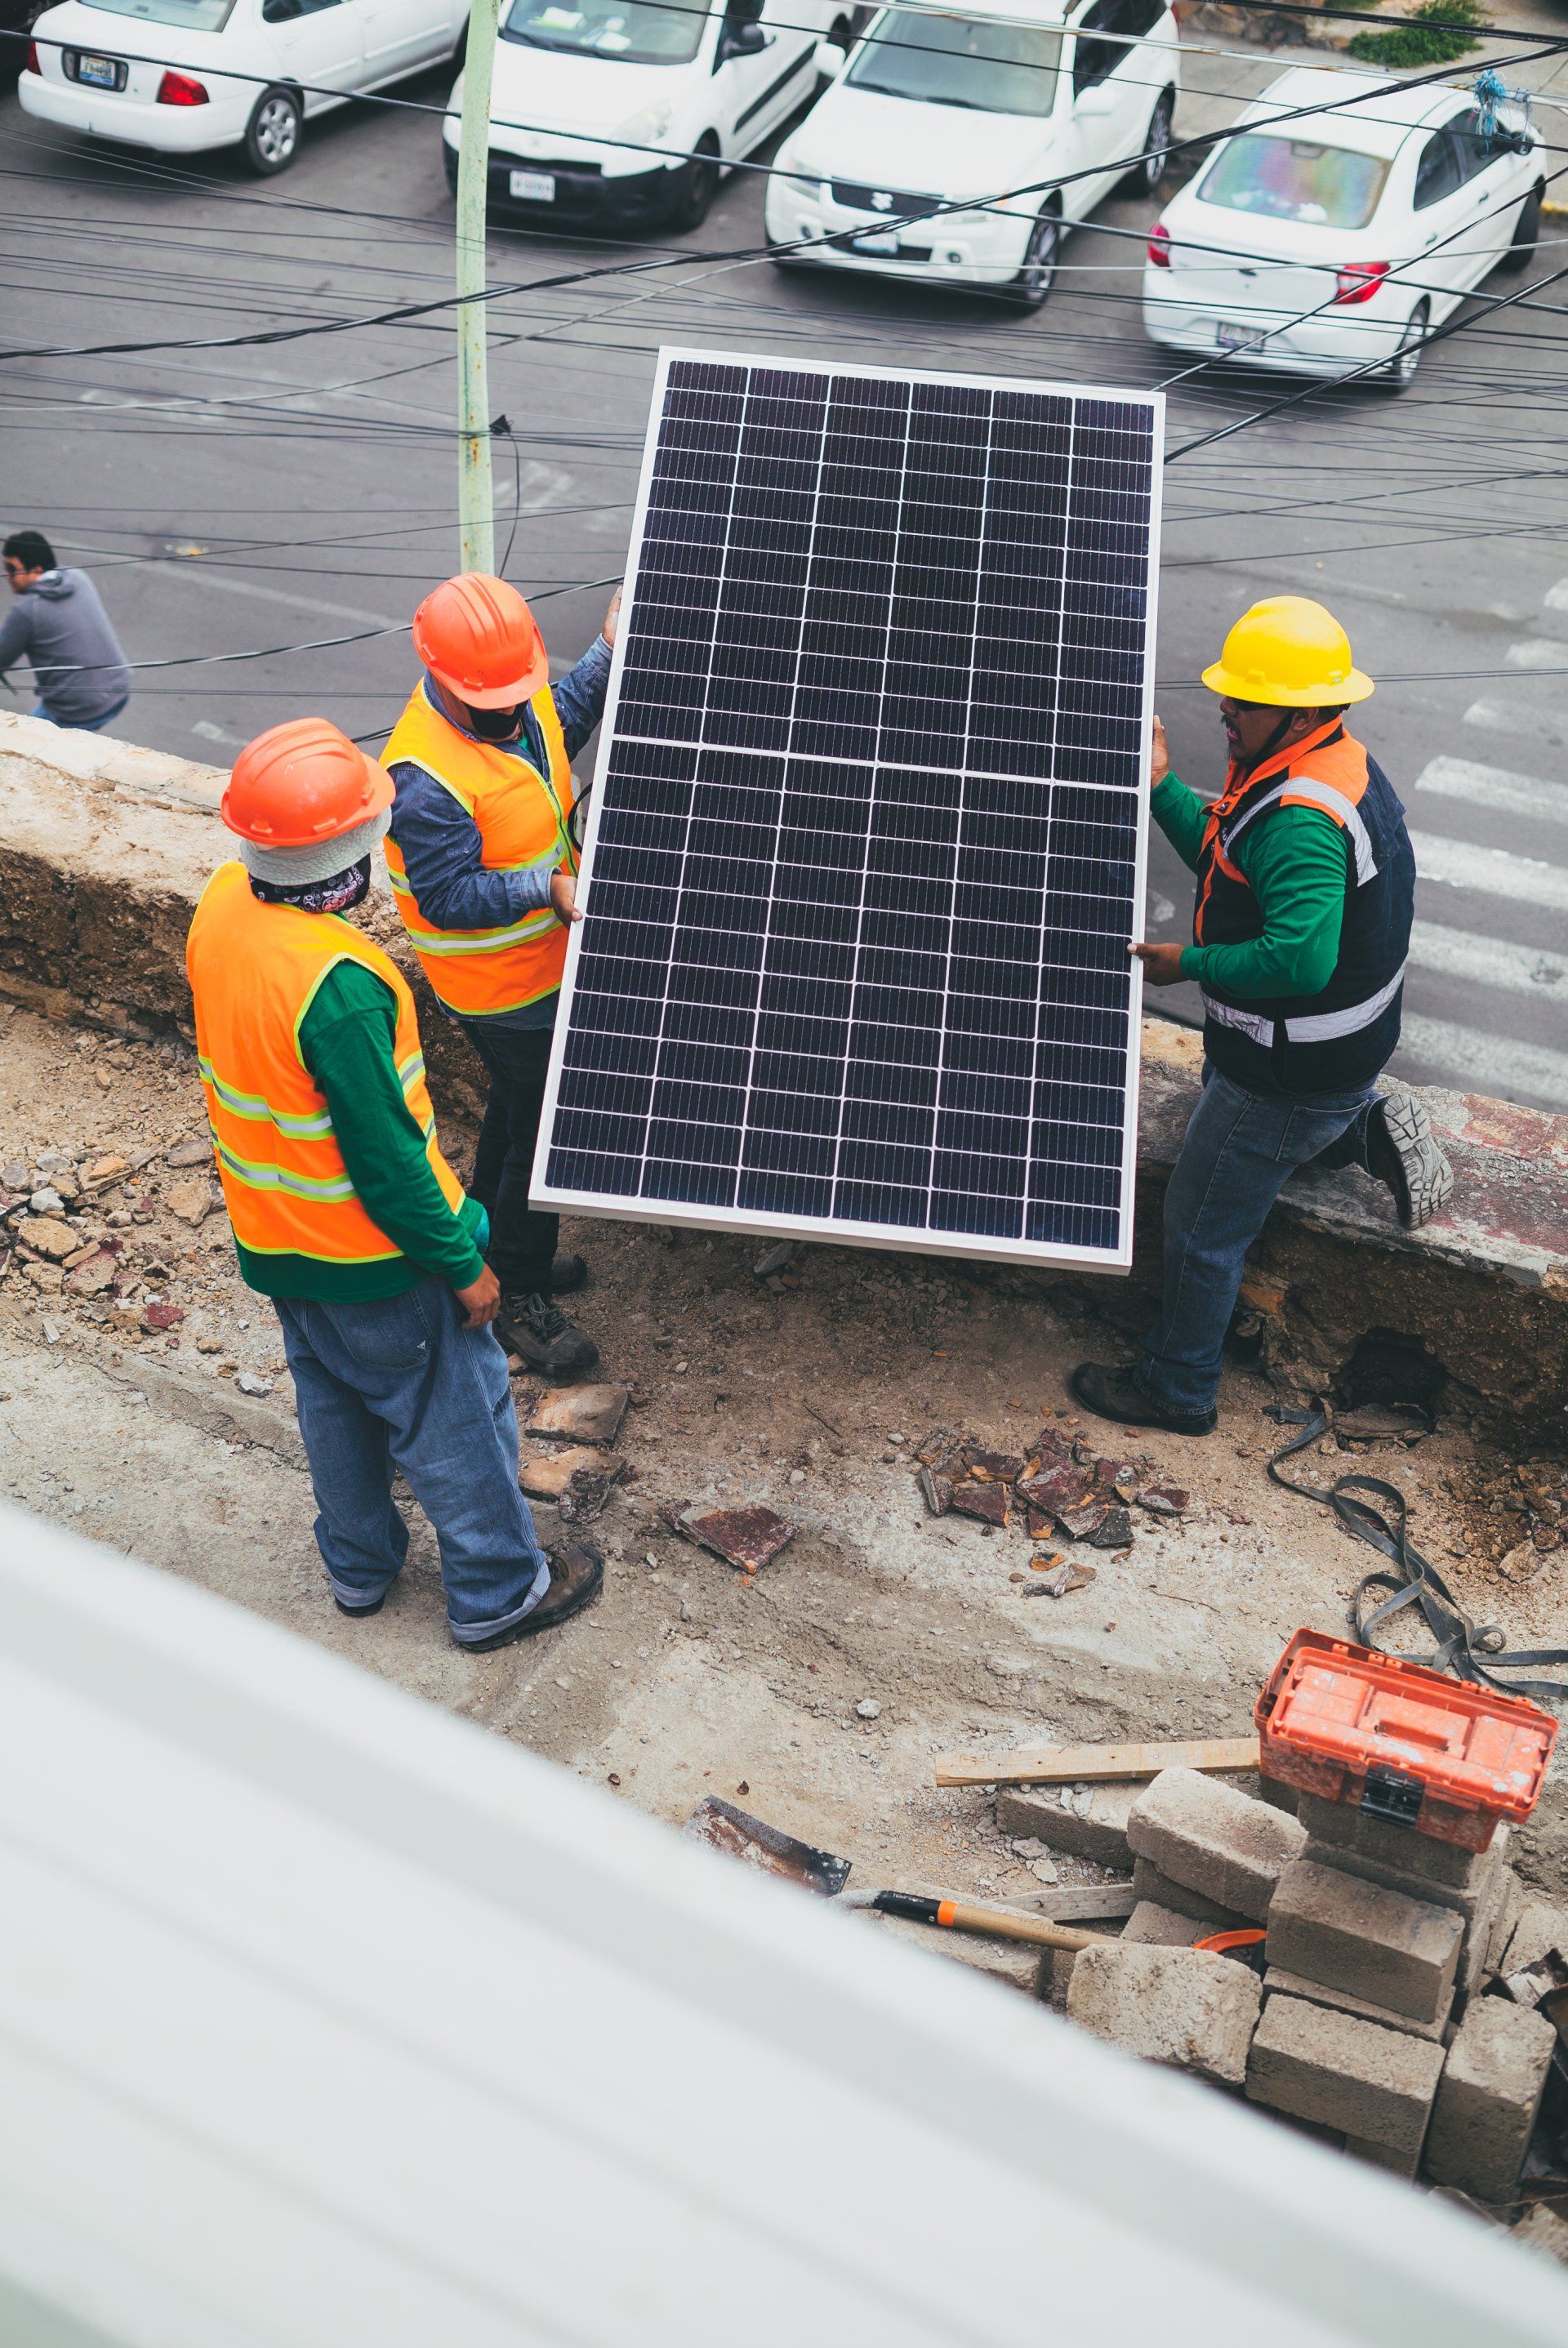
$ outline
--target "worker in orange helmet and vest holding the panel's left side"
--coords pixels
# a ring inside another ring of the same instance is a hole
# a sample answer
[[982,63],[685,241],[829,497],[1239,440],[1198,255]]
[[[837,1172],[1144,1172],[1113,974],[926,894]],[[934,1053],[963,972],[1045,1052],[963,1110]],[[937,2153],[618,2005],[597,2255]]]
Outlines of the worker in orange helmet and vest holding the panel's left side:
[[474,1197],[491,1216],[502,1341],[570,1383],[599,1348],[554,1303],[587,1280],[556,1254],[559,1219],[528,1205],[566,930],[580,920],[570,761],[599,726],[620,594],[603,634],[561,683],[528,603],[467,573],[413,615],[425,676],[383,763],[397,784],[387,871],[437,1000],[491,1073]]

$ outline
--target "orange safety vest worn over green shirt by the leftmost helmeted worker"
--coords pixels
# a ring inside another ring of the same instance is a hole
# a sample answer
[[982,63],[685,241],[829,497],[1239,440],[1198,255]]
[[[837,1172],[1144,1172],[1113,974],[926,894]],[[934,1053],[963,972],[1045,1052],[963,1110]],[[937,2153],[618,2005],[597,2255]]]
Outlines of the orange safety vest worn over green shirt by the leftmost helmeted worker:
[[338,913],[261,904],[244,864],[221,864],[185,939],[197,1059],[235,1237],[258,1256],[385,1263],[401,1247],[359,1205],[326,1094],[300,1059],[300,1021],[336,963],[359,963],[397,996],[397,1073],[446,1205],[462,1183],[437,1143],[408,981]]

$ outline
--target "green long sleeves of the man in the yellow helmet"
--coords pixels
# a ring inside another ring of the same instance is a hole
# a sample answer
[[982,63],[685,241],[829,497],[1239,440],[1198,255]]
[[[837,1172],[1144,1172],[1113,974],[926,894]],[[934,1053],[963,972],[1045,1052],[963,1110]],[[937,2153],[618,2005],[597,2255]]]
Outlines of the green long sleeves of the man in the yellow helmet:
[[[1181,862],[1197,871],[1207,801],[1167,775],[1150,810]],[[1183,979],[1242,998],[1322,993],[1340,958],[1345,857],[1345,834],[1317,808],[1275,808],[1265,824],[1249,824],[1232,862],[1258,899],[1263,935],[1239,946],[1188,946]]]

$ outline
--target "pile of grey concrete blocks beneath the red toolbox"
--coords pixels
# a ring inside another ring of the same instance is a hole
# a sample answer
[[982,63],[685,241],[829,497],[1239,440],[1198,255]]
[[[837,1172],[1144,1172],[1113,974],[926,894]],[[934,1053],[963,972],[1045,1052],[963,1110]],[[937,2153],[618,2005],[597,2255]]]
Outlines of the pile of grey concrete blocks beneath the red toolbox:
[[[1087,1806],[998,1794],[1002,1831],[1129,1867],[1138,1895],[1120,1939],[1052,1958],[1049,1993],[1096,2036],[1491,2217],[1552,2186],[1568,2205],[1568,1911],[1526,1895],[1507,1824],[1476,1853],[1261,1789],[1167,1768]],[[1216,1932],[1253,1939],[1195,1946]]]

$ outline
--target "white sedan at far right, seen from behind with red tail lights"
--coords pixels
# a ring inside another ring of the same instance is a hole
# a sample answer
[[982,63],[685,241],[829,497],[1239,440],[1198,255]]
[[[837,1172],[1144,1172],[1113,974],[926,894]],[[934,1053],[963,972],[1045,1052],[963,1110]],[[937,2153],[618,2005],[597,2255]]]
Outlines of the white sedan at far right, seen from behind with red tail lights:
[[[1171,350],[1404,390],[1422,336],[1535,251],[1545,164],[1516,108],[1296,68],[1249,106],[1148,242],[1143,326]],[[1333,113],[1296,108],[1333,106]]]

